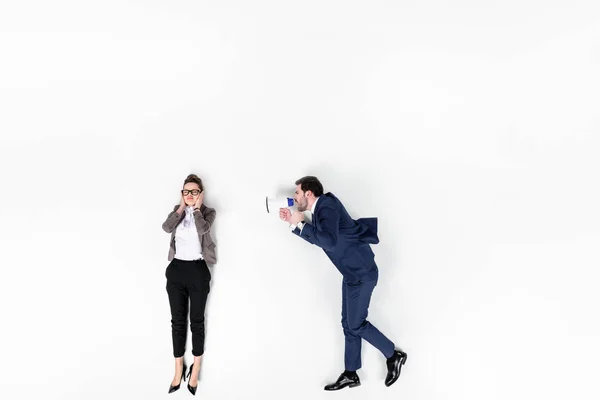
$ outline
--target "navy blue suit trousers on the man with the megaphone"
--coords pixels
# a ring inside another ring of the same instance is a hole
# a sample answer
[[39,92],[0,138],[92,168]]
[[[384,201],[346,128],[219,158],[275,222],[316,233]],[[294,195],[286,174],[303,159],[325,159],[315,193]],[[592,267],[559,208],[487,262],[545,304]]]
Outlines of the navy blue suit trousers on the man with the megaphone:
[[344,364],[348,371],[356,371],[362,366],[362,339],[371,343],[386,358],[394,354],[394,343],[367,321],[371,294],[376,285],[377,279],[358,283],[342,282],[342,328],[346,342]]

